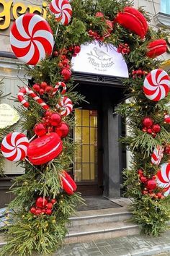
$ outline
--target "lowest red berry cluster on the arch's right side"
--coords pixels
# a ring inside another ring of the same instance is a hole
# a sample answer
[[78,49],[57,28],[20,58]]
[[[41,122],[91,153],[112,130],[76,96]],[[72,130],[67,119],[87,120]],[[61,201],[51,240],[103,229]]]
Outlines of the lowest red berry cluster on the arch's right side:
[[154,193],[153,190],[157,188],[156,185],[156,176],[153,175],[152,179],[148,179],[146,176],[143,175],[143,170],[138,170],[138,176],[140,182],[144,184],[144,189],[142,191],[143,195],[148,195],[153,199],[164,199],[163,192]]

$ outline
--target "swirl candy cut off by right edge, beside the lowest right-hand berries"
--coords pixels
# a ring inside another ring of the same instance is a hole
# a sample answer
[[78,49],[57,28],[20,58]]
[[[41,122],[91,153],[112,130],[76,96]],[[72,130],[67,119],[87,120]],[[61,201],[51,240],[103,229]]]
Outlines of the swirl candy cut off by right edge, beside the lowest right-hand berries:
[[170,163],[163,163],[161,169],[157,173],[156,182],[158,187],[161,187],[164,196],[167,197],[170,193]]

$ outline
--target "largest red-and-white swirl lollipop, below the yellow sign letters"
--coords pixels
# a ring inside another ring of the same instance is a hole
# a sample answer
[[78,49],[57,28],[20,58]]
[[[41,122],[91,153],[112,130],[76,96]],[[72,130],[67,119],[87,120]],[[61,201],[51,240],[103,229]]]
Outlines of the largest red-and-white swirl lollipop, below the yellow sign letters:
[[26,64],[36,65],[53,52],[53,31],[48,22],[37,14],[24,14],[12,25],[12,51]]

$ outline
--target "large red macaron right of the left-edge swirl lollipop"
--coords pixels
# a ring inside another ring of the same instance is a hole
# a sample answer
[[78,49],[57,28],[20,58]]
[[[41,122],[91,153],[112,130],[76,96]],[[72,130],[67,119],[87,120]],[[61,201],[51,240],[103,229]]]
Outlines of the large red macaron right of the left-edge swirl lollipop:
[[30,142],[27,149],[29,161],[35,166],[48,163],[56,158],[63,150],[61,137],[55,132],[43,135]]

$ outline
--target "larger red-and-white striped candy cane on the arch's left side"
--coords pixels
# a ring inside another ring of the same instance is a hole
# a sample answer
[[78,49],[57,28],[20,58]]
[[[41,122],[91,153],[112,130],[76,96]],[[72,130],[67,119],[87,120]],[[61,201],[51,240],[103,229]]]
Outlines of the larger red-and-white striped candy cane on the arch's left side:
[[25,108],[29,107],[29,103],[24,99],[24,95],[29,95],[38,104],[40,104],[43,109],[49,109],[49,106],[44,101],[42,101],[42,99],[36,93],[34,93],[30,88],[27,87],[20,89],[18,93],[18,100]]

